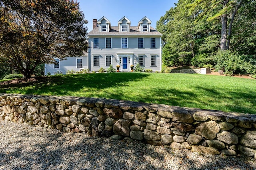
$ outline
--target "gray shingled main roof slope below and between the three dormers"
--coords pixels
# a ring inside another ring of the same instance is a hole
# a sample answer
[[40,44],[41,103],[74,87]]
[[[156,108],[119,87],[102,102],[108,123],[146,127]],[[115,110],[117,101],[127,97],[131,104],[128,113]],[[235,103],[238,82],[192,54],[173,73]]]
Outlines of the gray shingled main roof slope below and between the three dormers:
[[156,36],[156,37],[161,37],[162,34],[158,32],[156,29],[153,27],[150,27],[150,32],[141,32],[139,29],[137,29],[136,26],[131,26],[130,27],[130,32],[119,32],[119,29],[117,26],[111,27],[109,32],[99,32],[99,27],[95,27],[88,33],[88,37],[103,37],[103,36]]

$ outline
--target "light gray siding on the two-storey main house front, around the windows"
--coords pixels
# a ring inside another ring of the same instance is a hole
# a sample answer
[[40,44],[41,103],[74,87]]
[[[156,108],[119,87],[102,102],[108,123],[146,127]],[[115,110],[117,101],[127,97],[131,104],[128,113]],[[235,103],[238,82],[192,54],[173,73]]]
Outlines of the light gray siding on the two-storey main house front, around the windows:
[[[119,63],[118,57],[130,58],[130,63],[128,63],[128,69],[130,70],[130,65],[136,66],[138,63],[138,55],[144,55],[144,69],[152,69],[153,71],[161,70],[161,48],[160,48],[160,37],[156,37],[156,48],[150,49],[150,37],[144,37],[144,48],[138,49],[138,37],[128,37],[128,49],[121,49],[121,37],[112,37],[112,49],[105,49],[105,38],[100,37],[100,49],[93,49],[92,44],[93,39],[89,38],[90,50],[88,53],[89,57],[89,69],[90,71],[98,71],[100,67],[105,70],[106,67],[106,55],[112,55],[112,65],[116,68],[119,64],[120,70],[122,71],[122,63]],[[100,56],[100,66],[93,66],[93,55]],[[150,66],[150,55],[156,55],[156,66]]]

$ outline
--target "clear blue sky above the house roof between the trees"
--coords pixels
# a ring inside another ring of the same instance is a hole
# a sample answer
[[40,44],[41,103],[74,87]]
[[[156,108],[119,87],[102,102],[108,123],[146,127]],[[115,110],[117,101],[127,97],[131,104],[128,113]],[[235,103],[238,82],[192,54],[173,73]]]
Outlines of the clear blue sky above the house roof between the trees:
[[78,0],[80,8],[88,20],[88,32],[92,31],[92,19],[99,20],[105,16],[111,26],[117,26],[118,20],[126,16],[131,26],[137,26],[144,16],[152,21],[156,28],[156,21],[174,7],[178,0]]

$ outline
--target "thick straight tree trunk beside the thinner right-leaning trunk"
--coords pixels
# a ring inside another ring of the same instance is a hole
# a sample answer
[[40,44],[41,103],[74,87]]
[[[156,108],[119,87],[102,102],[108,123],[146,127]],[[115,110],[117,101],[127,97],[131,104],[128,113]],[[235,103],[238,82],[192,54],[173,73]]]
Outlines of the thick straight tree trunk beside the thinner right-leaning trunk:
[[[225,8],[227,0],[223,2],[223,8]],[[220,50],[226,50],[227,43],[227,14],[222,14],[221,16],[221,39],[220,39]]]

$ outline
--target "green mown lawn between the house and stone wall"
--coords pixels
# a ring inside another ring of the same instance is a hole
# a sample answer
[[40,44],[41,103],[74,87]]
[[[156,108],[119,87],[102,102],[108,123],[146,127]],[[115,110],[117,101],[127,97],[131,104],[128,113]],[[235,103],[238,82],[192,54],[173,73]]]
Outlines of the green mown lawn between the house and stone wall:
[[256,114],[256,80],[201,74],[104,73],[0,85],[0,93],[112,98]]

